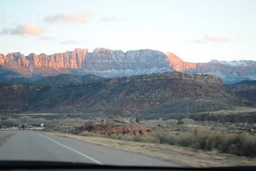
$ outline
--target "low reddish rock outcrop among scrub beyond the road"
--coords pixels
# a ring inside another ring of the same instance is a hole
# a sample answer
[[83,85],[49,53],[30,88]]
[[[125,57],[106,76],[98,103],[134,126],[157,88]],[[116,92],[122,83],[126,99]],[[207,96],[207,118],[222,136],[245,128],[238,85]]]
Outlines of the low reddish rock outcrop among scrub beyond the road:
[[92,133],[108,135],[147,135],[152,133],[152,129],[139,125],[134,117],[117,119],[94,118],[92,121],[87,121],[86,124],[79,127],[78,130],[87,130]]

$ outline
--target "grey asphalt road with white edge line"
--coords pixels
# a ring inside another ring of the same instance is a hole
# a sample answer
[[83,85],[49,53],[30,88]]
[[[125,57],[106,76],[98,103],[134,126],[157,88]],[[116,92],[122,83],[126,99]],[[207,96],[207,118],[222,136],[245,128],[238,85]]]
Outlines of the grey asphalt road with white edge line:
[[141,153],[110,149],[85,141],[29,130],[0,133],[0,161],[2,160],[68,161],[98,165],[182,166]]

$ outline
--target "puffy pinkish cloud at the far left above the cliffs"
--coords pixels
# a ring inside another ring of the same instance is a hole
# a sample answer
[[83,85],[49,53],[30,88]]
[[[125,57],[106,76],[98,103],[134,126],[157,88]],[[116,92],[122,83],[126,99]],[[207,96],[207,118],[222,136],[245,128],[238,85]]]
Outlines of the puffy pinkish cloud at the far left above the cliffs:
[[10,35],[31,35],[37,36],[44,32],[41,26],[34,26],[31,23],[18,25],[16,28],[8,29],[4,28],[1,31],[1,34],[10,34]]

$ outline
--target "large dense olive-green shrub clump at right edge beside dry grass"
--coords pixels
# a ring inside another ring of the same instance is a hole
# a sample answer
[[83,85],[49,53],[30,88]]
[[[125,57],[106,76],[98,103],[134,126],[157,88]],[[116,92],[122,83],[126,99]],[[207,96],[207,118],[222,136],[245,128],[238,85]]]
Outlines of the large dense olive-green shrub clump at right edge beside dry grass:
[[218,149],[222,153],[256,157],[256,137],[246,133],[234,134],[213,130],[196,130],[182,133],[177,137],[169,137],[169,139],[166,137],[166,135],[162,135],[163,141],[169,141],[170,145],[181,145],[202,150]]

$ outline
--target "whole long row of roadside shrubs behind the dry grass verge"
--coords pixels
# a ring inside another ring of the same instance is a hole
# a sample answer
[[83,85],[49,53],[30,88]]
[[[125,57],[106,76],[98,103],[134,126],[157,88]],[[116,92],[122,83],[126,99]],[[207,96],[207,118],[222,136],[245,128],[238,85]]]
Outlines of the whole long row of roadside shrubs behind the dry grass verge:
[[137,141],[180,145],[193,149],[218,150],[222,153],[232,153],[238,156],[256,157],[256,136],[248,133],[222,133],[211,129],[193,129],[186,133],[155,132],[151,136],[145,135],[102,135],[83,131],[82,136],[110,137],[123,141]]

